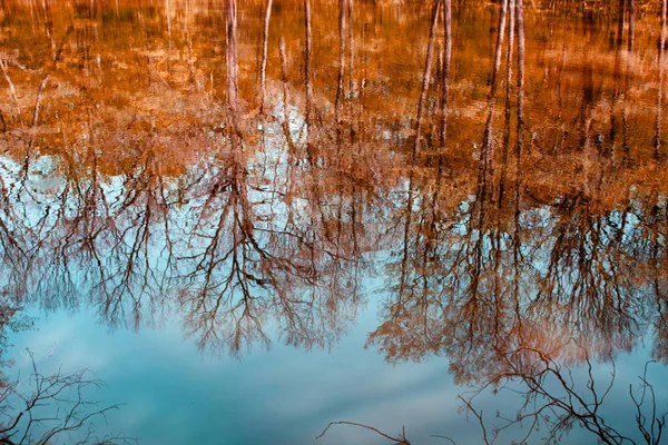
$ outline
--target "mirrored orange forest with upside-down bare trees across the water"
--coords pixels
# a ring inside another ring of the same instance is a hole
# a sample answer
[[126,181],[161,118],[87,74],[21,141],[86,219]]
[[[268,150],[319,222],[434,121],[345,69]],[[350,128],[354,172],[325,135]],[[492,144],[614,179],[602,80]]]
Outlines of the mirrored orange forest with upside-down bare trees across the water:
[[3,323],[666,364],[665,2],[533,3],[2,1]]

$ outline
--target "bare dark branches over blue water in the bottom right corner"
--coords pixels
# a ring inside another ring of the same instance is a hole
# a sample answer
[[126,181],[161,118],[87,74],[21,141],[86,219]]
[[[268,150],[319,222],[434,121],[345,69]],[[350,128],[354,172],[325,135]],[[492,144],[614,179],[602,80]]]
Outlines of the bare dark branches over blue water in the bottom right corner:
[[[579,350],[586,363],[583,375],[576,375],[573,369],[552,358],[559,355],[557,349],[561,348]],[[478,419],[485,444],[497,442],[501,434],[519,425],[524,426],[519,443],[527,443],[538,434],[542,435],[544,443],[560,443],[574,426],[579,426],[603,444],[636,444],[638,441],[648,445],[660,444],[668,413],[658,411],[655,388],[647,376],[649,364],[646,364],[642,376],[638,377],[639,385],[629,387],[629,406],[632,406],[637,431],[625,431],[621,425],[606,421],[606,399],[616,380],[615,360],[612,357],[608,359],[611,364],[610,377],[607,382],[600,382],[595,377],[587,348],[573,342],[556,345],[550,350],[519,347],[503,356],[505,366],[501,373],[492,376],[482,387],[460,396],[460,399]],[[497,419],[490,421],[482,409],[475,407],[477,397],[492,386],[495,392],[519,393],[524,399],[514,416],[499,412]],[[492,431],[488,431],[490,426]],[[541,429],[543,432],[539,433]]]

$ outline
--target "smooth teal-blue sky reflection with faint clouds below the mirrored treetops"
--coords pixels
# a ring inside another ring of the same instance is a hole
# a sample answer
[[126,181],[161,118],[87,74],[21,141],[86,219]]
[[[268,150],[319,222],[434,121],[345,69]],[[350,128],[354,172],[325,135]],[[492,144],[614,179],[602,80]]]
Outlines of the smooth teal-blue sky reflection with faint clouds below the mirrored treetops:
[[[191,339],[183,338],[178,324],[137,334],[109,332],[91,310],[58,312],[41,318],[35,330],[10,338],[17,359],[12,372],[27,373],[26,347],[35,352],[43,373],[59,366],[63,372],[90,368],[107,386],[88,397],[125,404],[109,415],[109,428],[140,436],[146,444],[386,443],[350,426],[333,427],[316,442],[331,421],[366,423],[390,434],[405,425],[413,443],[432,443],[432,434],[477,443],[474,419],[466,423],[458,414],[456,396],[466,388],[453,385],[446,358],[387,365],[364,348],[366,334],[377,326],[376,312],[369,305],[331,352],[304,352],[275,342],[271,350],[254,348],[242,359],[202,356]],[[619,357],[617,384],[605,411],[611,425],[632,426],[628,384],[637,384],[648,357],[647,348]],[[608,373],[607,365],[597,366],[597,382],[607,382]],[[657,365],[649,377],[664,382],[668,372]],[[668,388],[655,389],[659,409],[668,408]],[[520,402],[502,392],[497,397],[485,394],[477,404],[494,422],[497,408],[512,416]],[[581,434],[569,439],[591,439]]]

